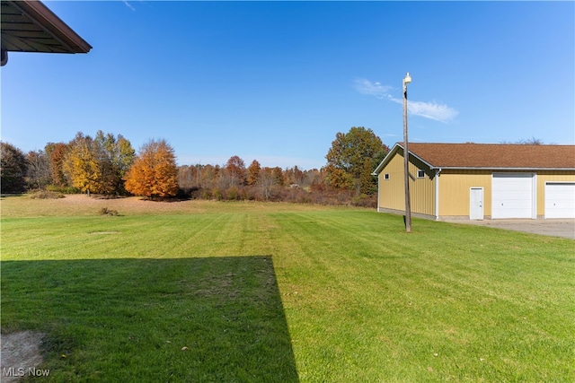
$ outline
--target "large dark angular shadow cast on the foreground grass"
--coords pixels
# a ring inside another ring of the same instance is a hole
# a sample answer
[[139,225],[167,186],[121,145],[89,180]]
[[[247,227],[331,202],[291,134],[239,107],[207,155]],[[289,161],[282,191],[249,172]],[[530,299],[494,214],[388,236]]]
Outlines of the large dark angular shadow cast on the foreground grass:
[[271,257],[2,262],[49,380],[298,381]]

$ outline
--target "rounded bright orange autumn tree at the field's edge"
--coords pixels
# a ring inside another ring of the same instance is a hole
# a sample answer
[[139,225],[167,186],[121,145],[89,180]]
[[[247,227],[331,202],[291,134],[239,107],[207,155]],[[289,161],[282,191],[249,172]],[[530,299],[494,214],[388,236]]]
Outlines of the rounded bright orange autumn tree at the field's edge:
[[124,179],[126,190],[136,196],[175,196],[178,168],[172,146],[165,140],[144,144]]

